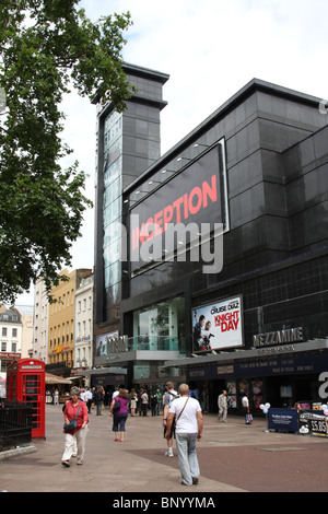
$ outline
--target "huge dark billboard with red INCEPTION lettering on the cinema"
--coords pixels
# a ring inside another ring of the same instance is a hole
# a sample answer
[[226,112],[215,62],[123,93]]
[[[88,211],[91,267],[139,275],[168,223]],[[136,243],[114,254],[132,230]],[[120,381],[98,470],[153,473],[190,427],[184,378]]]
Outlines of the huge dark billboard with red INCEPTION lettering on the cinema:
[[[224,140],[191,161],[130,211],[132,273],[172,260],[227,229]],[[191,260],[196,254],[191,255]],[[199,256],[201,258],[201,256]],[[180,259],[183,260],[183,259]],[[214,272],[214,271],[213,271]]]

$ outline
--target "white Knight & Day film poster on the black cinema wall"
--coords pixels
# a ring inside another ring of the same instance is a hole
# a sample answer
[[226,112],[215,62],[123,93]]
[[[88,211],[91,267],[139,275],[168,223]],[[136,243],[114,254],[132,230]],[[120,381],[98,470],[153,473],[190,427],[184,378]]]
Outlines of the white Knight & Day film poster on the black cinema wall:
[[244,346],[242,303],[238,295],[192,309],[195,353]]

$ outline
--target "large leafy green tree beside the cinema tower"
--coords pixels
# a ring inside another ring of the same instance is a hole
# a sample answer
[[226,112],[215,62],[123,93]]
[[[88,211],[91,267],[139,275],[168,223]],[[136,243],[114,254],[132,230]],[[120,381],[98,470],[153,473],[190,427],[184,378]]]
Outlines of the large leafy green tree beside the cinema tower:
[[92,23],[79,2],[1,0],[1,302],[13,302],[38,277],[48,291],[58,284],[91,205],[79,163],[59,164],[72,152],[60,139],[63,94],[75,87],[90,101],[110,100],[117,110],[132,94],[120,56],[130,13]]

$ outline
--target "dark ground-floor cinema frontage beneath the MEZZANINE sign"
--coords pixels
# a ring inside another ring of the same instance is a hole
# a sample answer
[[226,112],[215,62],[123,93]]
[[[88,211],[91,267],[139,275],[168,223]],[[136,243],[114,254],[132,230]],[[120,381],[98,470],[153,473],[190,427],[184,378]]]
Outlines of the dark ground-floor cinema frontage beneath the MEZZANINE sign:
[[186,366],[190,388],[207,397],[211,412],[218,411],[223,389],[235,413],[243,412],[244,395],[254,414],[261,414],[260,405],[266,402],[274,408],[293,408],[296,402],[312,408],[325,401],[320,375],[328,370],[328,339],[195,357],[179,364]]

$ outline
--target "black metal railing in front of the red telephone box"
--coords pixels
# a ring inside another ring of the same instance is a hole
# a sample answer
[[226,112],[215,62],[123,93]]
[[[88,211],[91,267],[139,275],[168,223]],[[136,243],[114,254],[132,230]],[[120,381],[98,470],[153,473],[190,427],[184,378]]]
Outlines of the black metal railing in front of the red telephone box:
[[0,451],[31,443],[32,410],[20,401],[0,400]]

